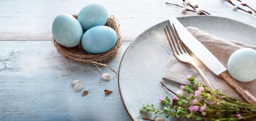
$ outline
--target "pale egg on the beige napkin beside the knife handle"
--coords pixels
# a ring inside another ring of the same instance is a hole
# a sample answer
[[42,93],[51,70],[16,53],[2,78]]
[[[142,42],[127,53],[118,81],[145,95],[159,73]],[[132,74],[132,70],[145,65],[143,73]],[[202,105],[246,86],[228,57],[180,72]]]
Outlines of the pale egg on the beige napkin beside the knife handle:
[[228,73],[237,81],[256,79],[256,50],[241,48],[228,58]]

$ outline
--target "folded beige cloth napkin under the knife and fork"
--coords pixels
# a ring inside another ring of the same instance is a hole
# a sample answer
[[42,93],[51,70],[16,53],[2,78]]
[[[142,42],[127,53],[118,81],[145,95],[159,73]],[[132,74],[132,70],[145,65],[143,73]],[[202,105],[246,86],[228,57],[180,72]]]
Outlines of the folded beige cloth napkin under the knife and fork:
[[[213,53],[213,55],[217,57],[217,59],[220,60],[220,62],[224,66],[227,66],[228,57],[230,57],[230,55],[237,49],[243,47],[256,49],[256,47],[254,46],[246,45],[244,43],[229,40],[226,38],[220,38],[218,36],[208,34],[207,32],[201,31],[198,28],[194,28],[191,26],[188,27],[187,30],[207,49],[209,49],[209,51],[211,51],[211,53]],[[205,65],[203,65],[203,63],[198,60],[198,58],[196,58],[195,60],[214,88],[219,89],[222,93],[226,93],[231,97],[241,99],[237,95],[237,93],[225,83],[225,81],[215,76],[215,74],[213,74]],[[192,74],[196,81],[205,84],[203,83],[203,79],[201,79],[201,76],[191,65],[180,62],[177,58],[175,58],[173,54],[171,54],[162,78],[171,81],[172,83],[177,85],[189,85],[190,82],[186,79],[187,74]],[[248,91],[250,91],[250,93],[252,93],[254,96],[256,96],[255,80],[246,83],[239,82],[239,84]]]

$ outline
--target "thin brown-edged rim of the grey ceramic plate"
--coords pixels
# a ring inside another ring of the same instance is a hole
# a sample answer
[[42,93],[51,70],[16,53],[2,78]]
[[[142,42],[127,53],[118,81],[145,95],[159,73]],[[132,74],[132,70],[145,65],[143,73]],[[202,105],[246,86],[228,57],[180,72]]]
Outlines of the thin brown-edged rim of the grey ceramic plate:
[[[216,18],[221,18],[221,19],[228,19],[228,20],[231,20],[231,21],[235,21],[235,22],[238,22],[238,23],[241,23],[241,24],[245,24],[247,25],[248,27],[250,28],[253,28],[253,29],[256,29],[256,27],[252,26],[252,25],[249,25],[249,24],[246,24],[246,23],[243,23],[241,21],[237,21],[237,20],[234,20],[234,19],[230,19],[230,18],[226,18],[226,17],[220,17],[220,16],[215,16],[215,15],[190,15],[190,16],[182,16],[182,17],[177,17],[177,19],[179,18],[189,18],[189,17],[216,17]],[[169,20],[169,19],[167,19]],[[164,20],[164,21],[167,21],[167,20]],[[156,23],[155,25],[158,25],[164,21],[161,21],[159,23]],[[134,38],[134,40],[137,40],[137,38],[139,38],[141,35],[143,35],[145,32],[147,32],[147,30],[151,29],[152,27],[154,27],[155,25],[152,25],[151,27],[147,28],[146,30],[144,30],[141,34],[139,34],[136,38]],[[123,61],[123,58],[124,58],[124,55],[126,54],[126,51],[130,48],[130,45],[132,45],[132,43],[134,43],[134,40],[128,45],[127,49],[124,51],[124,54],[122,56],[122,59],[120,61],[120,64],[119,64],[119,68],[118,68],[118,74],[117,74],[117,82],[118,82],[118,90],[119,90],[119,94],[120,94],[120,97],[121,97],[121,100],[122,100],[122,103],[124,105],[124,108],[126,110],[126,112],[128,113],[130,119],[132,119],[132,121],[135,121],[135,119],[132,117],[132,115],[130,114],[130,112],[128,111],[127,107],[126,107],[126,104],[124,102],[124,99],[123,99],[123,96],[122,96],[122,91],[120,90],[120,81],[119,81],[119,76],[120,76],[120,67],[122,65],[122,61]]]

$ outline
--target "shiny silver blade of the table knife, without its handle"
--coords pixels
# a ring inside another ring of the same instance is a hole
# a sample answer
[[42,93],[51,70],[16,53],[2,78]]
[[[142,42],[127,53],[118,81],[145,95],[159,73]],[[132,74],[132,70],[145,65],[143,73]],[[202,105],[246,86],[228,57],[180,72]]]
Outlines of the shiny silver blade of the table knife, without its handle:
[[199,42],[188,30],[179,22],[175,16],[170,16],[169,21],[175,25],[179,37],[182,42],[198,57],[198,59],[211,70],[215,75],[220,75],[226,71],[226,67],[201,43]]

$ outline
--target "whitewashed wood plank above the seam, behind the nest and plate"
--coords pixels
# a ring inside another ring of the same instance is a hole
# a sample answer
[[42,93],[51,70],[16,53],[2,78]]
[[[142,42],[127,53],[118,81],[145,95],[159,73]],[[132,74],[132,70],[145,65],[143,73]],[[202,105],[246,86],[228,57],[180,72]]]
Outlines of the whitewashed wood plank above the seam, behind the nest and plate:
[[[104,2],[109,13],[119,18],[124,41],[133,40],[145,29],[168,19],[169,15],[196,15],[191,12],[181,13],[179,7],[166,5],[166,0],[97,1]],[[198,3],[212,15],[228,17],[256,27],[256,17],[243,11],[232,11],[233,6],[224,0],[190,1]],[[254,0],[243,1],[256,8]],[[90,2],[94,0],[0,0],[0,40],[51,40],[51,24],[58,14],[77,14]],[[182,0],[169,2],[183,5]],[[238,3],[236,0],[234,2]]]

